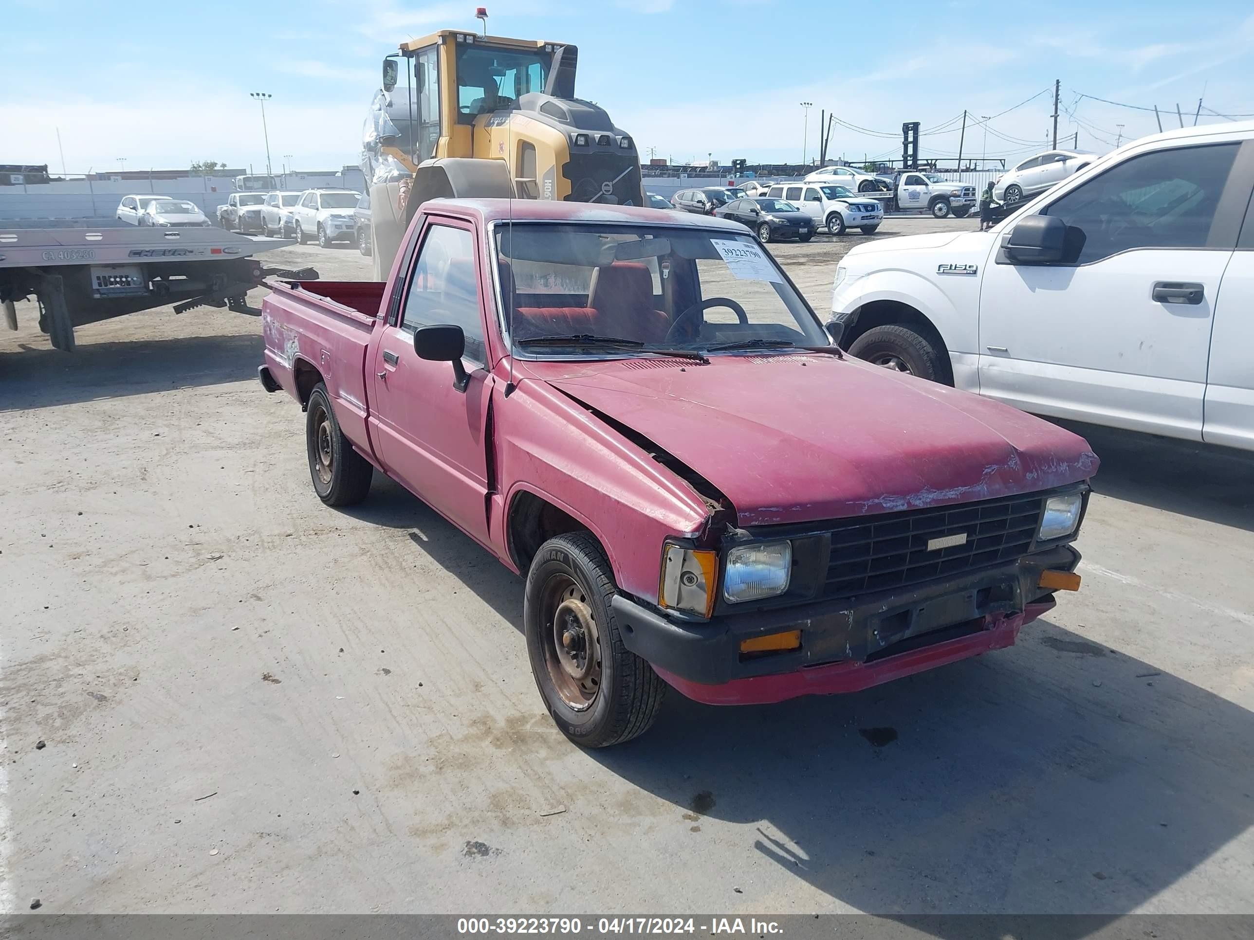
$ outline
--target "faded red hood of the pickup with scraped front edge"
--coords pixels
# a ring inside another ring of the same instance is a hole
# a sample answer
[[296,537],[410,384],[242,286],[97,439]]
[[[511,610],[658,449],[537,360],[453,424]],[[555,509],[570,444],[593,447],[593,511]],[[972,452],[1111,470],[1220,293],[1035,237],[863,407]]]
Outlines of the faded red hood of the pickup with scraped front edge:
[[703,476],[741,525],[993,499],[1097,469],[1082,437],[1038,417],[825,353],[525,368]]

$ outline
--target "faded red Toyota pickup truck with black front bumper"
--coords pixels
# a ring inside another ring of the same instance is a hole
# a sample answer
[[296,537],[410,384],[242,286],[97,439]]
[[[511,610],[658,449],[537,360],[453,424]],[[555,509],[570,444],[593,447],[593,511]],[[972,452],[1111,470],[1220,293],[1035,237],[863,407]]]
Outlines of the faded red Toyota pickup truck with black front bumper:
[[601,747],[701,702],[1011,645],[1075,589],[1097,459],[841,355],[742,226],[435,199],[379,282],[278,282],[260,368],[332,506],[398,480],[523,574],[535,683]]

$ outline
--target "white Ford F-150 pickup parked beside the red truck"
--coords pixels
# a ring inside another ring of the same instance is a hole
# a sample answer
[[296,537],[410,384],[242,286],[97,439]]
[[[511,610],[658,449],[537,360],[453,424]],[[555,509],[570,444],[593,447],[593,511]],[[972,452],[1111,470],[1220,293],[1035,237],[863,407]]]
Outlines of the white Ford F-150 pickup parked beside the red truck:
[[1122,147],[988,232],[836,268],[861,358],[1026,411],[1254,450],[1254,122]]

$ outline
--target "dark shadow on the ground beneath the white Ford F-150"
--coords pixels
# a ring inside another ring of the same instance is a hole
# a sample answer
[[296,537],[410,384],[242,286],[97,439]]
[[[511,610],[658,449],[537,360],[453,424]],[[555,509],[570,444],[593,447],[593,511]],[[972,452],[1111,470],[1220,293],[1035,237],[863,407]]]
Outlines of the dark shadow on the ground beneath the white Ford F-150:
[[1254,454],[1115,427],[1056,424],[1083,436],[1101,459],[1096,493],[1254,531]]

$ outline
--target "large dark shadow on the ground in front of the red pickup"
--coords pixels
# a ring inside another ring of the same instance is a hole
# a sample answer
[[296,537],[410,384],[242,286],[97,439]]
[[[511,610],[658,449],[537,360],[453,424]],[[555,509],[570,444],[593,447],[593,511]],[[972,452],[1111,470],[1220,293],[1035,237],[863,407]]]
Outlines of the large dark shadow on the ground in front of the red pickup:
[[[754,826],[766,859],[890,915],[1129,912],[1254,823],[1254,714],[1048,622],[1013,650],[853,696],[716,708],[672,693],[648,734],[587,756],[673,803],[677,825]],[[747,877],[727,884],[751,904]]]

